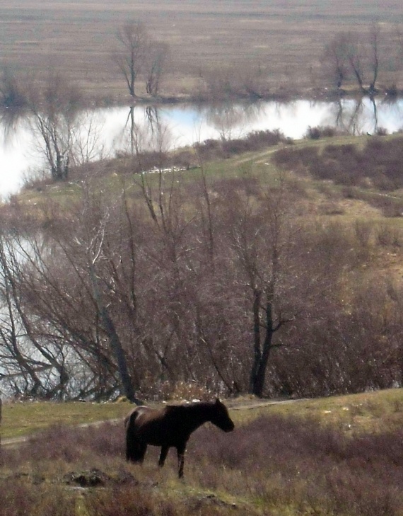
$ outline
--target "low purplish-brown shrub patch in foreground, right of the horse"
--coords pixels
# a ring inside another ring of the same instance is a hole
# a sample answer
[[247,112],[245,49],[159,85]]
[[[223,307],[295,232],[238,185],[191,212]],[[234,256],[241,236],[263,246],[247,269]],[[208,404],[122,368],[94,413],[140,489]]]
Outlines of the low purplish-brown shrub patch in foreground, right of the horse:
[[[399,514],[399,432],[351,439],[313,420],[271,416],[239,428],[230,438],[212,438],[206,428],[197,438],[189,450],[193,459],[209,457],[217,466],[254,471],[248,487],[267,502],[292,500],[331,514]],[[264,483],[259,483],[259,473]],[[288,495],[272,491],[272,484],[279,488],[278,478],[288,479]]]

